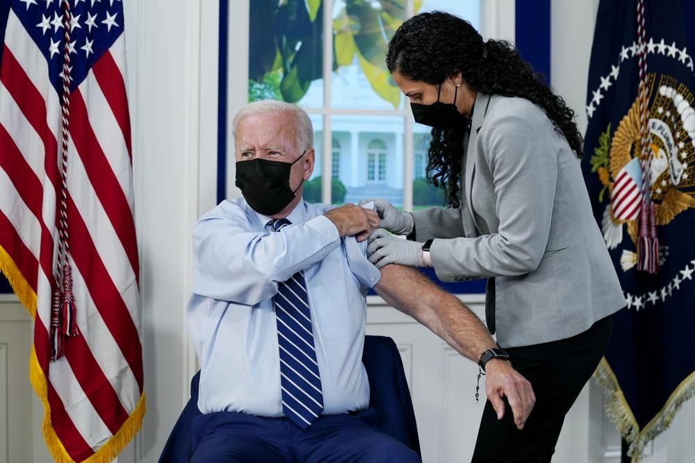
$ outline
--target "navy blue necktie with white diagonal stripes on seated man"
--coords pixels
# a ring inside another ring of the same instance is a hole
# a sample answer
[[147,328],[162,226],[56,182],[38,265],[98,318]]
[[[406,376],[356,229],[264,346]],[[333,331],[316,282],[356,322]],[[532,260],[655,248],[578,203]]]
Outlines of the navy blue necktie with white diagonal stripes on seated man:
[[[270,221],[275,231],[290,224],[287,219]],[[289,280],[279,283],[272,301],[280,348],[282,412],[297,426],[306,429],[323,410],[323,394],[304,272],[298,271]]]

